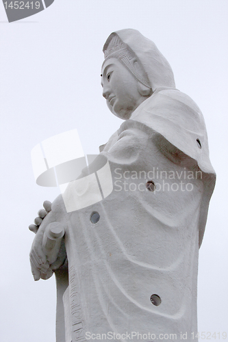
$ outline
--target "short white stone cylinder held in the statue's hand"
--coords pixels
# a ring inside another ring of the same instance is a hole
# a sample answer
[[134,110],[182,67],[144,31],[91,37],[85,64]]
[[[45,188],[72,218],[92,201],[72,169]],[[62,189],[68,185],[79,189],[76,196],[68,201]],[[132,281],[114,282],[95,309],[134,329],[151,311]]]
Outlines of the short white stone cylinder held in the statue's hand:
[[60,251],[64,227],[59,222],[51,222],[45,231],[42,239],[42,250],[47,257],[50,265],[56,260]]

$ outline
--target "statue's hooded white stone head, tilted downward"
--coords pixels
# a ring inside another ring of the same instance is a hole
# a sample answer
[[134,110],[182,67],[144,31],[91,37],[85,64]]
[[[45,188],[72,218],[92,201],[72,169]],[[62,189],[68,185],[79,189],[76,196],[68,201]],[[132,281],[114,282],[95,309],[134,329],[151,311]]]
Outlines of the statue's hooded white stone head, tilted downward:
[[112,33],[103,47],[101,85],[107,106],[119,118],[131,113],[160,87],[175,87],[173,71],[155,44],[134,29]]

